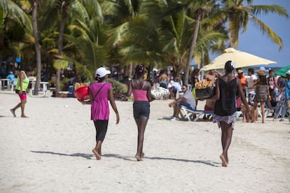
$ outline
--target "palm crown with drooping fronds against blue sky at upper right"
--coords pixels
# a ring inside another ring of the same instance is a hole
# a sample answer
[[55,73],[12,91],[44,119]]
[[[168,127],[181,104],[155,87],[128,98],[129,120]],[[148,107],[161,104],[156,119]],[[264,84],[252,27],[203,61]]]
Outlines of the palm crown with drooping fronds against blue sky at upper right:
[[236,48],[239,43],[240,30],[247,30],[249,20],[254,22],[262,33],[268,35],[273,43],[279,45],[282,49],[282,39],[262,20],[258,19],[260,14],[275,13],[280,16],[289,17],[289,13],[282,7],[277,5],[252,5],[253,0],[223,0],[221,1],[220,19],[228,23],[228,31],[230,34],[229,46]]

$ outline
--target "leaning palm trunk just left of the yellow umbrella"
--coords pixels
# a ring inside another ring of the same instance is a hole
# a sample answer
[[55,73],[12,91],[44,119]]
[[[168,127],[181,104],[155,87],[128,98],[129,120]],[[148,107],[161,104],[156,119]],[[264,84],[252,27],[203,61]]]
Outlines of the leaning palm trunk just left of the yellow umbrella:
[[196,12],[195,17],[195,27],[193,31],[193,40],[191,41],[191,48],[188,51],[188,58],[187,58],[187,64],[186,64],[186,70],[185,70],[185,76],[184,76],[184,84],[188,85],[188,77],[189,77],[189,67],[191,66],[191,60],[193,57],[193,50],[195,48],[196,41],[198,40],[198,29],[200,28],[200,18],[201,18],[201,10],[198,10]]

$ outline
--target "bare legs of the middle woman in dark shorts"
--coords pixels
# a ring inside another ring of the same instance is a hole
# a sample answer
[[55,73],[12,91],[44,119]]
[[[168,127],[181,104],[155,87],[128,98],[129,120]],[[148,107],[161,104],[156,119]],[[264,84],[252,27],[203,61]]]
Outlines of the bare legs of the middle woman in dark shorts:
[[142,161],[142,157],[144,157],[143,152],[143,143],[144,143],[144,132],[146,128],[146,124],[148,122],[147,117],[141,117],[138,120],[135,120],[138,127],[138,141],[137,141],[137,153],[135,155],[137,161]]

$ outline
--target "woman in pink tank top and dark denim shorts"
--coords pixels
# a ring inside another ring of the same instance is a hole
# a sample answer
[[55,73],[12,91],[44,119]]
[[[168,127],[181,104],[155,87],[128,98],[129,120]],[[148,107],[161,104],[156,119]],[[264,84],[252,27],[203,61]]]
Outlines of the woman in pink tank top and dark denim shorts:
[[144,157],[143,141],[146,124],[150,115],[151,101],[151,83],[144,80],[145,68],[143,65],[137,65],[135,69],[135,78],[128,83],[128,90],[125,95],[130,96],[133,93],[133,113],[134,120],[138,128],[137,161],[142,161]]

